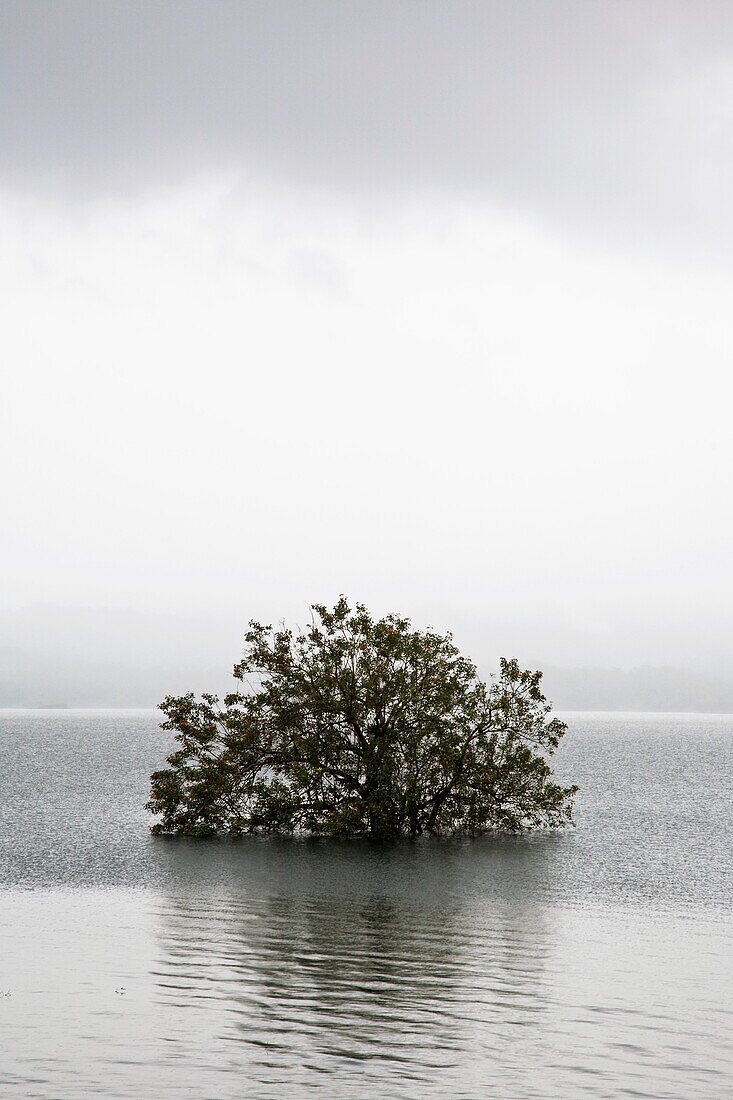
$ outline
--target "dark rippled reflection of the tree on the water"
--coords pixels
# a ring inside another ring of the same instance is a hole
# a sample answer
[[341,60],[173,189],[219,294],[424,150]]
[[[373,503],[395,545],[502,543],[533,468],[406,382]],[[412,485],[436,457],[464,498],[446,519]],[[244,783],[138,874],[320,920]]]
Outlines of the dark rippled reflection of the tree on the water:
[[161,993],[214,999],[225,1008],[219,1034],[278,1080],[353,1059],[362,1076],[366,1062],[374,1072],[390,1062],[420,1079],[477,1057],[504,1062],[514,1056],[504,1040],[526,1049],[546,1003],[546,916],[514,890],[518,868],[532,878],[543,850],[265,848],[293,858],[298,876],[286,892],[281,864],[263,894],[263,849],[252,847],[250,894],[247,848],[231,849],[241,890],[176,894],[162,910]]

